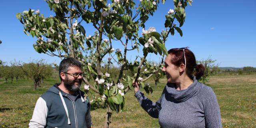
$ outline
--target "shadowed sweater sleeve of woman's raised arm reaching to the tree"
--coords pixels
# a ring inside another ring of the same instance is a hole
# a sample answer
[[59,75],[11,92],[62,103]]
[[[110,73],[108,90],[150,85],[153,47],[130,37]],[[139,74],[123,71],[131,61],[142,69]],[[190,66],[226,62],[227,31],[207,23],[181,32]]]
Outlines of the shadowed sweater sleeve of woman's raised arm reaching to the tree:
[[156,103],[149,100],[142,92],[137,91],[134,96],[138,99],[138,102],[142,106],[142,108],[148,112],[148,114],[153,118],[158,118],[159,111],[161,110],[160,100]]

